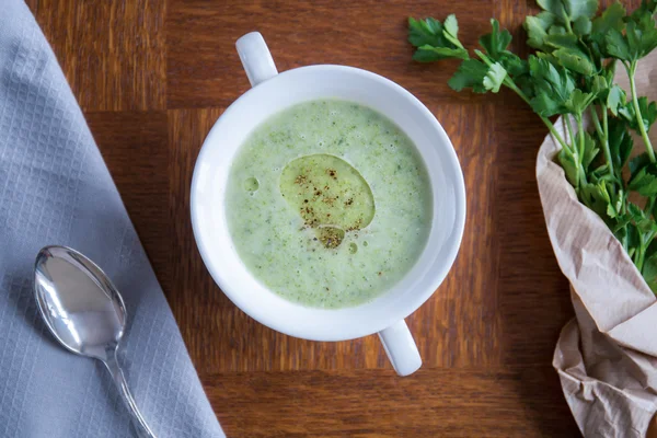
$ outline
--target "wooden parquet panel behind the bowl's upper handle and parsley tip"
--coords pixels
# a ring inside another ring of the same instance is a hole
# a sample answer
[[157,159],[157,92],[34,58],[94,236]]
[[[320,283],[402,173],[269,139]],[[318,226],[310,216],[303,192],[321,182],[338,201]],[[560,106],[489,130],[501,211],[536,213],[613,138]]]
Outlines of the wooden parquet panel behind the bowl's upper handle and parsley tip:
[[464,44],[473,46],[489,27],[493,4],[489,0],[443,5],[428,0],[173,0],[166,21],[168,107],[222,107],[246,91],[234,43],[256,30],[265,36],[279,71],[312,64],[348,65],[385,76],[420,100],[483,102],[489,97],[458,94],[447,87],[458,62],[427,66],[411,59],[406,20],[454,12]]

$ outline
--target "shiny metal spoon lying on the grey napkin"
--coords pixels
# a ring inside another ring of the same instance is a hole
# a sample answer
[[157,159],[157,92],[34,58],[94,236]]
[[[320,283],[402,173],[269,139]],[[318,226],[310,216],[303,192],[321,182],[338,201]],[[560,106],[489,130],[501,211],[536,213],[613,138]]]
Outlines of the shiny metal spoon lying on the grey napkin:
[[132,416],[137,436],[154,438],[116,360],[127,314],[123,298],[105,273],[70,247],[46,246],[36,256],[34,293],[57,341],[74,354],[105,364]]

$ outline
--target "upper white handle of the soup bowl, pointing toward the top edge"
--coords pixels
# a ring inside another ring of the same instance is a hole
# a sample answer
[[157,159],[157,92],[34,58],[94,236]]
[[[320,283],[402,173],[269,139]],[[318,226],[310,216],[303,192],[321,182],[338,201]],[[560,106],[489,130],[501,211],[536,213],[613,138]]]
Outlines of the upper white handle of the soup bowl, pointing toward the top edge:
[[267,43],[260,32],[251,32],[235,42],[235,48],[251,87],[278,74]]

